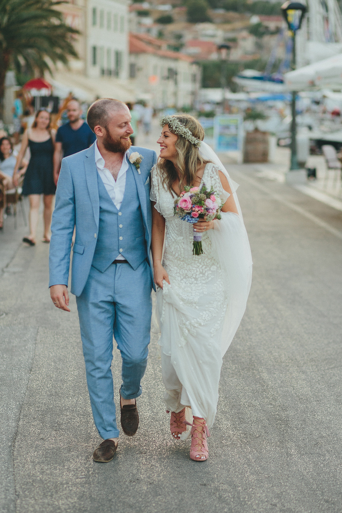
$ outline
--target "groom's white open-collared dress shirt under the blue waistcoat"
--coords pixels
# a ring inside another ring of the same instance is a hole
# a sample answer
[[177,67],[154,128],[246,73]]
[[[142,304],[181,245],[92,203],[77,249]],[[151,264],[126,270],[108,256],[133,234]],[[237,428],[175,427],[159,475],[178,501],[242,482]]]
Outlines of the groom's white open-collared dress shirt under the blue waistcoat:
[[[106,187],[110,199],[114,203],[117,210],[120,210],[120,206],[124,199],[125,186],[126,186],[126,171],[128,169],[128,157],[129,150],[126,151],[123,158],[123,163],[117,175],[116,182],[113,178],[112,173],[105,167],[105,159],[100,154],[97,148],[97,142],[94,144],[95,151],[95,163],[98,174]],[[122,254],[118,254],[115,260],[125,260]]]

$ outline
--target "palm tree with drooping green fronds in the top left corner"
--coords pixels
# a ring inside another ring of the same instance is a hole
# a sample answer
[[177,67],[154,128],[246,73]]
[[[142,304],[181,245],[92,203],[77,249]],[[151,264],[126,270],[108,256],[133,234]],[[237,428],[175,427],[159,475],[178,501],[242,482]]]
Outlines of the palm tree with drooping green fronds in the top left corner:
[[65,1],[0,0],[0,102],[5,92],[6,71],[10,67],[29,73],[50,69],[50,63],[68,64],[77,57],[73,37],[78,30],[63,22],[55,6]]

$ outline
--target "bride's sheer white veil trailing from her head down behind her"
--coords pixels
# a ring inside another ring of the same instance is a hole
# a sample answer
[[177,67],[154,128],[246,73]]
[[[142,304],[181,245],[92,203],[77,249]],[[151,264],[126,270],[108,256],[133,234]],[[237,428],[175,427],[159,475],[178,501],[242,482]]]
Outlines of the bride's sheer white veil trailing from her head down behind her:
[[252,280],[252,255],[244,225],[242,211],[237,199],[234,182],[216,153],[202,142],[199,152],[203,158],[213,162],[226,176],[238,211],[222,212],[222,220],[215,221],[215,229],[209,230],[213,253],[224,272],[227,310],[222,331],[222,356],[234,338],[246,310]]

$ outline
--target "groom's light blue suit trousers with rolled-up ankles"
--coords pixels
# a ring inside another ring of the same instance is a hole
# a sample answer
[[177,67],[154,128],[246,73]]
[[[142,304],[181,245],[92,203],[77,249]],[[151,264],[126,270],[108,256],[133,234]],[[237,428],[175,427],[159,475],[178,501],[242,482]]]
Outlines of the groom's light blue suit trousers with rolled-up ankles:
[[87,384],[94,422],[104,440],[116,438],[113,377],[113,333],[122,356],[121,396],[142,393],[147,366],[152,313],[152,278],[146,260],[134,271],[111,264],[105,272],[91,267],[82,294],[76,298]]

